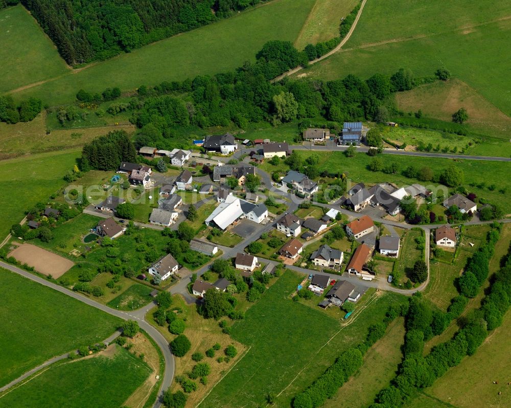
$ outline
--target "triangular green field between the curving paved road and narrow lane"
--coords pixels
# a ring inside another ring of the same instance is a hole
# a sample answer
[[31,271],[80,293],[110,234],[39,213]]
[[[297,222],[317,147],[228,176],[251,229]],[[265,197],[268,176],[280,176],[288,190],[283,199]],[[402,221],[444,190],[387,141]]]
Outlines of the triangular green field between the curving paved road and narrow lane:
[[0,384],[47,359],[106,339],[120,319],[0,268]]

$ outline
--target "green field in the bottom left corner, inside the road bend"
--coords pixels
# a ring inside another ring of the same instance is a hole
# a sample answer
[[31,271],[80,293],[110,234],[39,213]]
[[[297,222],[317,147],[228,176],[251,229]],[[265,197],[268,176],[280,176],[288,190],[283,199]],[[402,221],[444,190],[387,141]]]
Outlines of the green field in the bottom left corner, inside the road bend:
[[0,397],[0,407],[118,408],[153,371],[113,345],[107,355],[57,363]]

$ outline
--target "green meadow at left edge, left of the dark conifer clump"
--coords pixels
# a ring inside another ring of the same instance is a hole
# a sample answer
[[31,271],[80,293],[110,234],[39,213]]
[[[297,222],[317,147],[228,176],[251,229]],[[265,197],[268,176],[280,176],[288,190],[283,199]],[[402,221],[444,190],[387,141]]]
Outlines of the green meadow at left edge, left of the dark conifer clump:
[[66,151],[0,161],[0,191],[4,192],[0,194],[0,236],[6,236],[25,211],[38,201],[47,202],[65,184],[62,177],[79,156],[78,151]]

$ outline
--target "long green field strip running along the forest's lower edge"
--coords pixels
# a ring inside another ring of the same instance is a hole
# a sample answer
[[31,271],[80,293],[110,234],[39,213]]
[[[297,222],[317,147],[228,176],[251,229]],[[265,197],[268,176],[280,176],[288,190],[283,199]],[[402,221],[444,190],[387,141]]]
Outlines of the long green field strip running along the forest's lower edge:
[[[270,2],[131,53],[89,64],[81,71],[53,76],[48,82],[16,92],[15,97],[35,96],[44,103],[58,105],[73,102],[80,88],[101,92],[106,87],[119,86],[129,90],[142,84],[156,85],[233,70],[244,61],[254,61],[266,41],[294,41],[314,3],[314,0]],[[183,66],[187,69],[182,69]],[[9,89],[24,84],[16,83]]]

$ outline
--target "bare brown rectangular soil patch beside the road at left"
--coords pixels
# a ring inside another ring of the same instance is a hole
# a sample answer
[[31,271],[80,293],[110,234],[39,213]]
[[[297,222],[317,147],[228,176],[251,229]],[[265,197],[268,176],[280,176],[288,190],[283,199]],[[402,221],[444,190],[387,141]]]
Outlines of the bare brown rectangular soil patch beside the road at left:
[[32,244],[23,244],[12,250],[8,256],[14,256],[19,262],[26,263],[43,275],[52,275],[54,279],[60,278],[75,265],[75,262],[69,259]]

